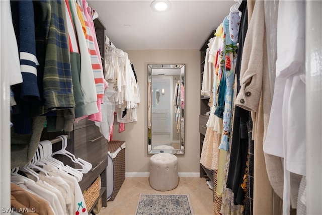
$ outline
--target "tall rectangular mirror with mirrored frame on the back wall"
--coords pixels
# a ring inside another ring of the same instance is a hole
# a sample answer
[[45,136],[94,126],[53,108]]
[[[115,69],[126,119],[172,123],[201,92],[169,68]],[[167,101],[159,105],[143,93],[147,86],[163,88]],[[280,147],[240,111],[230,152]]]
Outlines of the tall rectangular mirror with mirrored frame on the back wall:
[[148,64],[147,153],[185,152],[185,64]]

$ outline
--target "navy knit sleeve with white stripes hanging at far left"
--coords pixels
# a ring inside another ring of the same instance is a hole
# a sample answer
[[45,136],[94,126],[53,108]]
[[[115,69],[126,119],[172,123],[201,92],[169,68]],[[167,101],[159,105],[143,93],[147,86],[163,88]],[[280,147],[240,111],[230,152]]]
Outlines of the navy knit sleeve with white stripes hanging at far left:
[[30,102],[40,100],[37,85],[37,65],[34,7],[31,1],[12,1],[13,26],[20,55],[20,70],[23,82],[12,86],[17,105],[13,107],[12,122],[16,133],[30,134]]

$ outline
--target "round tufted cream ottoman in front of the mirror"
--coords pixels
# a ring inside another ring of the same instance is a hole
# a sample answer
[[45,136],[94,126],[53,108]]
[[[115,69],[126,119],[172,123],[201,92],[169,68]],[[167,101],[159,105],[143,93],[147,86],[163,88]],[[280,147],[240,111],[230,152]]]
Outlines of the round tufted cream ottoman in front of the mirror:
[[155,190],[175,189],[179,183],[178,158],[169,153],[151,156],[149,182]]

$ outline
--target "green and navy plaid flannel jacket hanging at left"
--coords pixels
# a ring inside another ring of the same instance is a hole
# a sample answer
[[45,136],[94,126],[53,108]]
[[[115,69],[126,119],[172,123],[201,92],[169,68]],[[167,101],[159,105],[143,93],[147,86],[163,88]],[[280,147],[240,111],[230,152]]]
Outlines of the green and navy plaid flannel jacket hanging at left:
[[[68,33],[60,1],[34,1],[37,68],[44,107],[40,115],[56,109],[75,107],[72,91]],[[41,86],[42,85],[42,86]]]

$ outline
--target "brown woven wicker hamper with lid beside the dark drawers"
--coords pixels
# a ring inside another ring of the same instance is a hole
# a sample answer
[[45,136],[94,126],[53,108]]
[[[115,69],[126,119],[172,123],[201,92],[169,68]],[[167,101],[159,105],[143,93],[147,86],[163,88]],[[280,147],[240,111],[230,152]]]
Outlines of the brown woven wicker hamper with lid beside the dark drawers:
[[[108,150],[110,153],[114,153],[118,150],[125,141],[110,141],[108,143]],[[124,180],[125,180],[125,148],[122,149],[117,156],[113,159],[114,163],[114,189],[111,196],[111,200],[114,200],[116,194],[119,192]],[[110,165],[110,164],[109,164]]]

